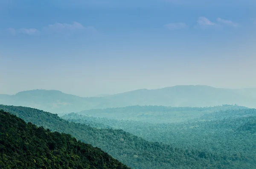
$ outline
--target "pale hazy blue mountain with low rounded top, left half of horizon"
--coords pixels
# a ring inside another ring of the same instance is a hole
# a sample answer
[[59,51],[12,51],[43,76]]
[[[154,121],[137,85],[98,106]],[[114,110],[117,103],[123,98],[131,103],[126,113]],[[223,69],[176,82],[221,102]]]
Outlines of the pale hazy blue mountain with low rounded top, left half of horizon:
[[84,98],[58,90],[29,90],[15,95],[0,95],[0,104],[38,108],[54,113],[81,111],[99,106],[104,98]]

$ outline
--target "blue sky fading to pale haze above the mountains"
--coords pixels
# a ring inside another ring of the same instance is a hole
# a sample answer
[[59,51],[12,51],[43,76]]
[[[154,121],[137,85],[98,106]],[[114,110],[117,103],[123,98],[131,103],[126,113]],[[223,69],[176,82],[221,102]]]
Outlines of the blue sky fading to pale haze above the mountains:
[[0,93],[256,87],[255,0],[0,0]]

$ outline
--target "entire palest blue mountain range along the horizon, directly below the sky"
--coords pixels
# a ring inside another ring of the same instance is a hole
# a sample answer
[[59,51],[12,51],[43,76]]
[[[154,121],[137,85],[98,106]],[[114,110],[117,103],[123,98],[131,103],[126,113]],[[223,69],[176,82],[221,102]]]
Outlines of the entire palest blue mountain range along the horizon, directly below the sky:
[[62,93],[58,90],[29,90],[15,95],[0,95],[0,104],[33,107],[52,113],[133,105],[208,107],[239,104],[254,108],[256,107],[256,88],[225,89],[202,85],[180,85],[87,98]]

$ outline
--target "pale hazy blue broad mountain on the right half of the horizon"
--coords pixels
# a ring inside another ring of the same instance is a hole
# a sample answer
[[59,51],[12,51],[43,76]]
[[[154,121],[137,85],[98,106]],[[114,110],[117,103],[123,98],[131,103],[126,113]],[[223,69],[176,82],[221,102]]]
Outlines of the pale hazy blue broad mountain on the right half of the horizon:
[[[251,89],[252,90],[252,89]],[[201,85],[180,85],[154,90],[134,90],[107,96],[116,103],[129,105],[162,105],[173,107],[206,107],[222,104],[239,104],[255,107],[256,95],[249,90],[234,90]]]

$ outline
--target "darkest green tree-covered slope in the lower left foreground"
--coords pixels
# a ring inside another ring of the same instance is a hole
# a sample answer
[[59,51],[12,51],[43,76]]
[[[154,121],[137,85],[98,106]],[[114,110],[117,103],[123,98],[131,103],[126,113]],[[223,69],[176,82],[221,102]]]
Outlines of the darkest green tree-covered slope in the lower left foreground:
[[99,148],[0,110],[1,169],[128,169]]

